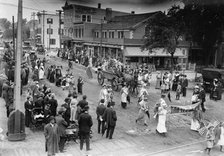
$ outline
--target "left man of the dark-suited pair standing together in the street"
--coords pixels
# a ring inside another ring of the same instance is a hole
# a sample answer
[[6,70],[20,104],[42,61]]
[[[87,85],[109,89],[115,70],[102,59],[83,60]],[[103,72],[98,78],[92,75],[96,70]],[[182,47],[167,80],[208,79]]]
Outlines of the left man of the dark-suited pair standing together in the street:
[[[98,120],[98,133],[100,134],[100,129],[101,133],[104,134],[104,125],[105,121],[103,120],[102,116],[106,110],[106,106],[104,105],[104,99],[100,100],[100,104],[96,108],[96,115],[97,115],[97,120]],[[102,128],[101,128],[102,126]]]

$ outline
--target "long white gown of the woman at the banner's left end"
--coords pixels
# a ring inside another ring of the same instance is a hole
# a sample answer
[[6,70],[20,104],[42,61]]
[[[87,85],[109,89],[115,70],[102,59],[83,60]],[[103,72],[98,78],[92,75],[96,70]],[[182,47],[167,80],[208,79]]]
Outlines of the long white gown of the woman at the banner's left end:
[[166,114],[167,114],[167,110],[163,109],[163,108],[159,108],[159,119],[158,119],[158,124],[157,124],[157,128],[156,130],[159,133],[166,133],[167,129],[166,129]]

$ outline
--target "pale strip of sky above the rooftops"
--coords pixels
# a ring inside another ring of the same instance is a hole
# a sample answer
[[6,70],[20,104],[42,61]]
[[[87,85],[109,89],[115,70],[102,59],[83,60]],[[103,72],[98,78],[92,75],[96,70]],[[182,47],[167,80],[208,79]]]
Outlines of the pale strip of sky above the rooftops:
[[[56,13],[62,9],[66,0],[23,0],[23,18],[31,20],[32,12],[46,10],[48,13]],[[153,11],[166,11],[178,0],[69,0],[81,5],[101,8],[112,8],[112,10],[145,13]],[[12,21],[12,16],[17,20],[18,0],[0,0],[0,18]]]

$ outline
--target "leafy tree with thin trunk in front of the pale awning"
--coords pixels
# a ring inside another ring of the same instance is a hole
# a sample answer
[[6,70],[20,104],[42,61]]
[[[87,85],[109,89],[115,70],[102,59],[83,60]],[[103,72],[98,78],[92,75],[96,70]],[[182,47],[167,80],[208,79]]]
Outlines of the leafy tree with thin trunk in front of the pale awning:
[[167,15],[160,13],[148,20],[142,49],[152,52],[154,48],[164,48],[164,51],[171,55],[171,70],[173,70],[174,53],[184,30],[181,9],[179,6],[173,6]]

